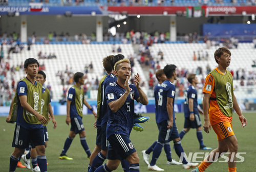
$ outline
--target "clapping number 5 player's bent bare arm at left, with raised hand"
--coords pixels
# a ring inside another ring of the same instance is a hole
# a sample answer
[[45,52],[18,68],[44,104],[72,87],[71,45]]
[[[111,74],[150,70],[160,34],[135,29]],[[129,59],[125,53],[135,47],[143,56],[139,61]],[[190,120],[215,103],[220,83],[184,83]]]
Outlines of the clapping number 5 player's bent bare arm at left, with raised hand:
[[121,106],[125,102],[126,98],[130,94],[130,87],[129,87],[129,84],[128,84],[128,79],[129,78],[127,77],[126,80],[125,80],[125,83],[124,83],[124,89],[125,89],[124,94],[119,99],[109,102],[110,109],[114,113],[116,113],[121,108]]

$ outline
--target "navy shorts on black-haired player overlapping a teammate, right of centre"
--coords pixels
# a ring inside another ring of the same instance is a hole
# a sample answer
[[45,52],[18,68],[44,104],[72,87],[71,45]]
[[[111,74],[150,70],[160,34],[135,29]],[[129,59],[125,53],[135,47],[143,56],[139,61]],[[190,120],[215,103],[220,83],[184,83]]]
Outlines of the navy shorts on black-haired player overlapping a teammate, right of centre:
[[167,128],[168,121],[164,120],[158,123],[159,128],[159,135],[158,135],[158,142],[159,143],[167,143],[171,140],[179,138],[179,133],[176,127],[176,124],[173,124],[172,128]]

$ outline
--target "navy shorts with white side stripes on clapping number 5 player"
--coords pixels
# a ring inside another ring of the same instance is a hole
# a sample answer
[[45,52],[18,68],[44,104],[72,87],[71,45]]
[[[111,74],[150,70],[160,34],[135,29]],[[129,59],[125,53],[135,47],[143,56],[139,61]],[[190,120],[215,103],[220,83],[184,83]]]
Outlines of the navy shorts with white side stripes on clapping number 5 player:
[[114,134],[108,140],[110,145],[106,158],[109,160],[123,160],[136,152],[132,141],[126,135]]

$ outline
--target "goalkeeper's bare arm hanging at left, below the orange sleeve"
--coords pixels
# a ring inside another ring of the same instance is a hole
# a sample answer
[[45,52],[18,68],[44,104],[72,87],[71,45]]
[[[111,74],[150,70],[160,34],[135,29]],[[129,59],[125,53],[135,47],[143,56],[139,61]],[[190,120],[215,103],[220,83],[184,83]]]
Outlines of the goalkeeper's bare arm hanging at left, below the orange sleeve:
[[204,93],[203,112],[204,112],[204,131],[206,133],[209,133],[209,131],[211,130],[211,125],[209,120],[209,100],[210,100],[210,94]]

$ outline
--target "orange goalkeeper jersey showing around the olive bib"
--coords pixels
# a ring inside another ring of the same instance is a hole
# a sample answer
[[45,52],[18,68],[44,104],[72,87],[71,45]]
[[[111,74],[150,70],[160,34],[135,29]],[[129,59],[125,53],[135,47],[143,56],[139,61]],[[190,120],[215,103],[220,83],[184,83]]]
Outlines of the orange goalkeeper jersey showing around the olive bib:
[[[218,68],[215,68],[218,73],[224,75],[221,73]],[[205,84],[204,84],[204,89],[203,93],[208,93],[210,94],[210,102],[209,102],[209,120],[210,124],[214,125],[223,121],[230,122],[232,121],[232,117],[227,117],[223,115],[221,112],[221,109],[217,103],[216,100],[216,92],[215,92],[215,80],[214,76],[212,74],[208,74],[205,78]]]

